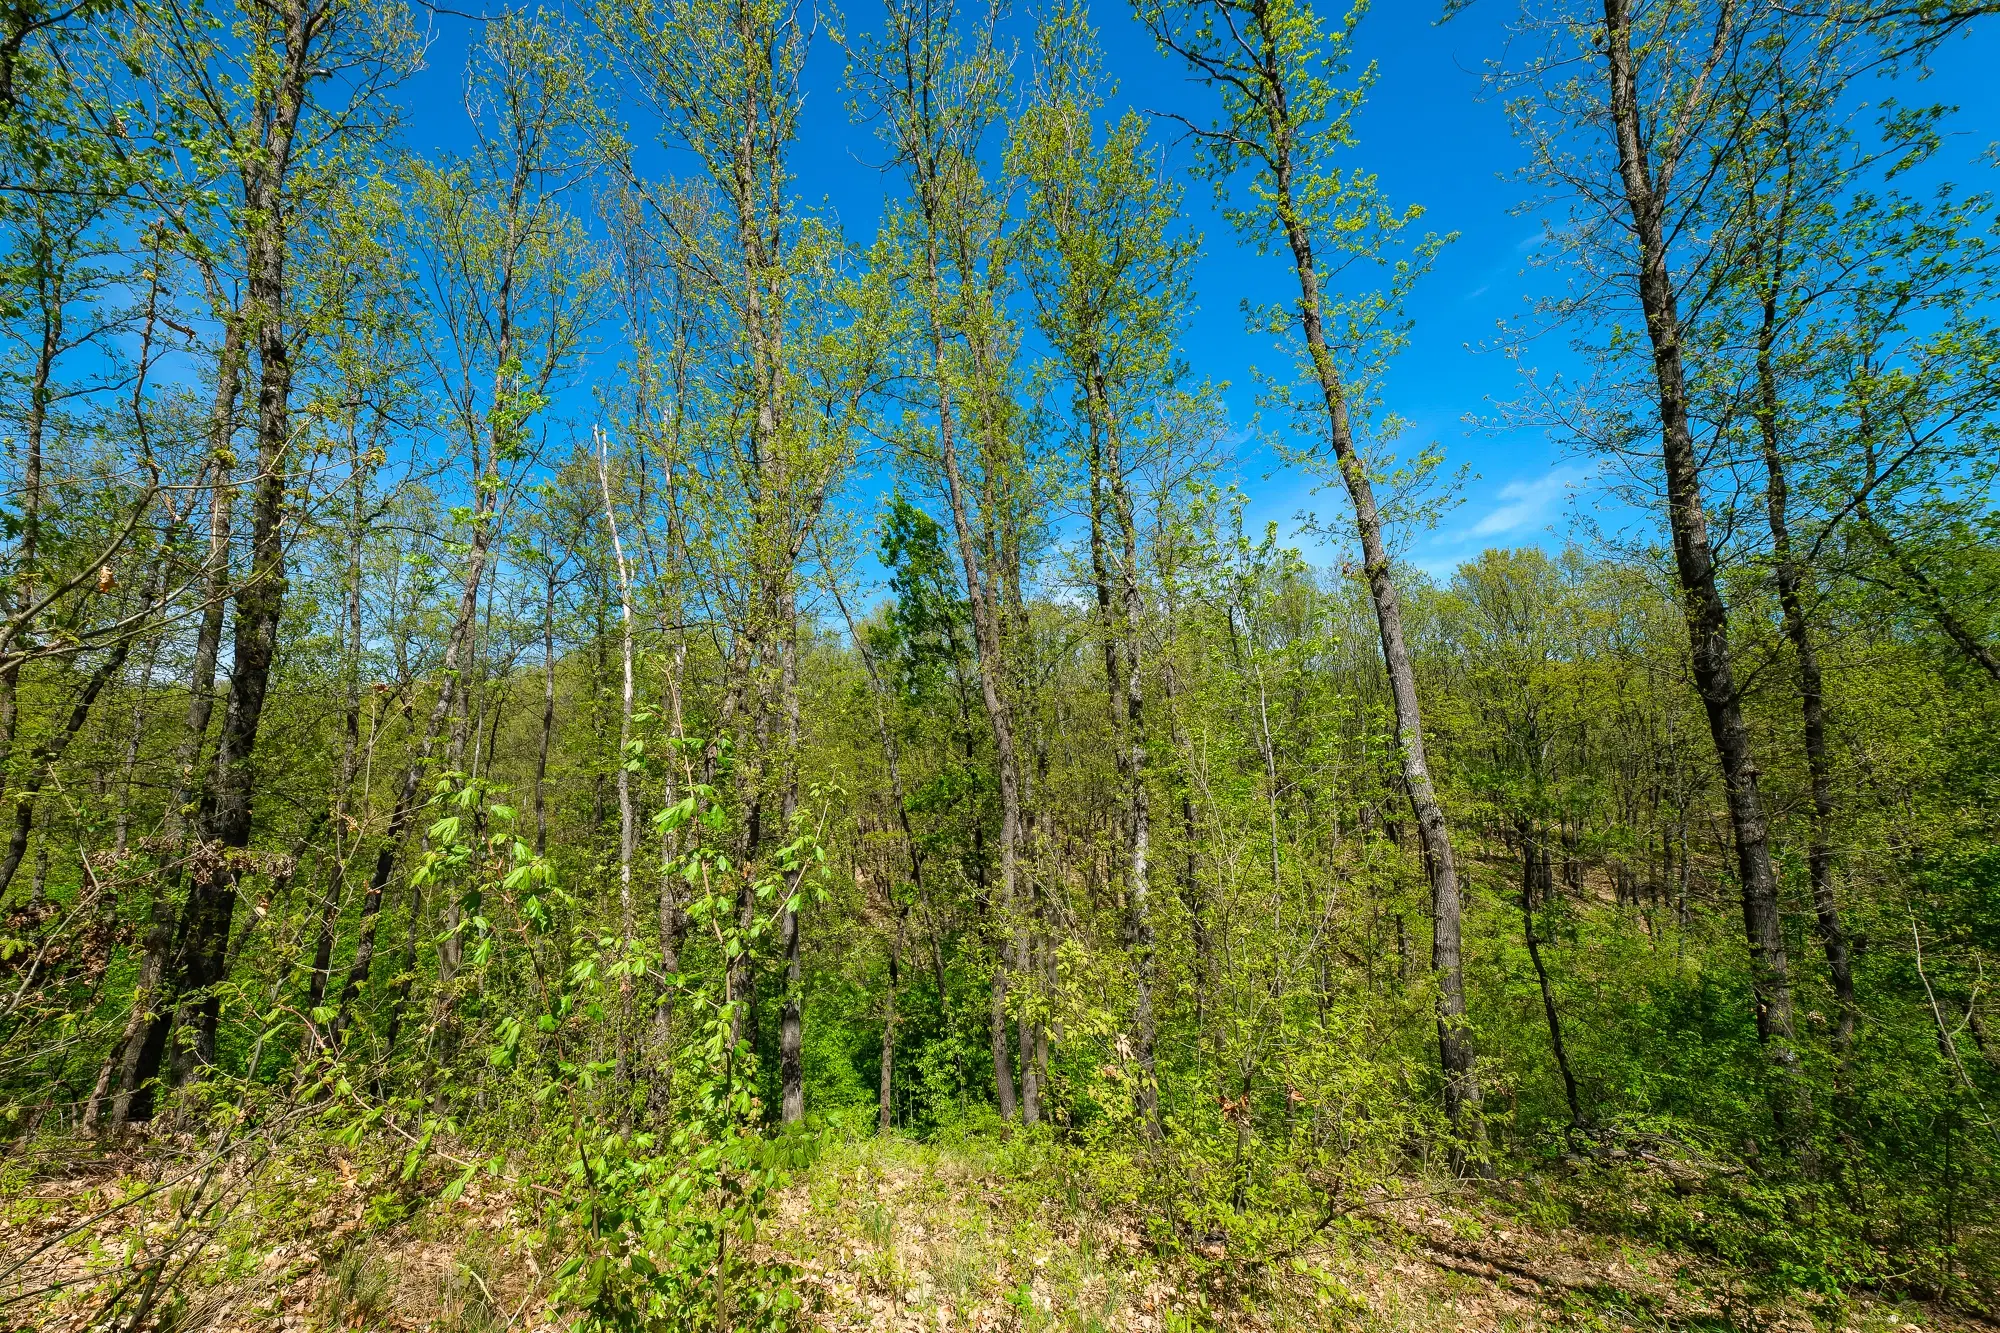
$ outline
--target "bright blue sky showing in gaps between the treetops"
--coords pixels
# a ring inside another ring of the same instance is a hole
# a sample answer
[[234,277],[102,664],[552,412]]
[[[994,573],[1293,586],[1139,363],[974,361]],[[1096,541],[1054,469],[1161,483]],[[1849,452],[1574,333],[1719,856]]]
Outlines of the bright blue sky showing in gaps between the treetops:
[[[856,26],[866,26],[870,8],[868,0],[852,0],[848,14]],[[1442,26],[1434,22],[1438,10],[1440,0],[1376,0],[1364,18],[1358,56],[1376,62],[1378,80],[1358,118],[1360,144],[1352,160],[1380,176],[1392,202],[1422,204],[1430,230],[1458,234],[1410,300],[1412,340],[1386,392],[1388,406],[1410,422],[1402,448],[1436,442],[1450,466],[1466,464],[1472,472],[1464,502],[1436,530],[1404,536],[1416,564],[1446,574],[1484,546],[1560,544],[1572,506],[1608,526],[1628,522],[1630,514],[1590,486],[1588,464],[1566,456],[1540,430],[1494,426],[1498,404],[1520,392],[1516,362],[1498,350],[1500,326],[1526,316],[1530,302],[1558,278],[1530,262],[1540,222],[1524,216],[1520,204],[1534,188],[1516,178],[1524,154],[1502,106],[1486,98],[1482,86],[1484,62],[1504,54],[1516,2],[1482,0]],[[1126,4],[1100,0],[1092,22],[1102,32],[1106,70],[1120,84],[1114,114],[1138,106],[1206,122],[1210,94],[1154,50]],[[1010,28],[1024,50],[1030,24],[1032,8],[1018,4]],[[824,200],[846,232],[866,242],[886,192],[898,182],[874,168],[880,152],[870,130],[848,120],[842,54],[824,36],[824,26],[822,20],[808,64],[798,190],[804,200]],[[408,90],[418,150],[450,152],[458,138],[468,30],[470,24],[438,18],[430,68]],[[1946,170],[1966,182],[1990,174],[1980,158],[2000,140],[2000,92],[1990,78],[1996,64],[2000,22],[1990,22],[1950,42],[1932,62],[1922,90],[1896,90],[1906,100],[1960,106]],[[1172,138],[1168,130],[1160,126],[1162,142]],[[1172,144],[1168,152],[1170,160],[1186,160]],[[1188,184],[1188,210],[1206,244],[1196,270],[1198,312],[1184,354],[1198,378],[1230,380],[1230,416],[1248,424],[1256,414],[1252,368],[1282,374],[1290,362],[1268,336],[1246,332],[1240,302],[1282,298],[1290,274],[1282,258],[1258,256],[1238,242],[1214,210],[1206,184]],[[1560,338],[1546,338],[1528,360],[1550,368],[1562,356]],[[1274,414],[1262,424],[1282,428]],[[1340,496],[1314,496],[1306,478],[1280,468],[1256,440],[1240,446],[1238,480],[1252,496],[1250,514],[1258,522],[1278,520],[1290,530],[1300,510],[1318,508],[1326,518],[1344,512]],[[870,502],[866,488],[856,498]],[[1300,544],[1316,546],[1310,538]],[[1338,558],[1324,546],[1314,554]]]

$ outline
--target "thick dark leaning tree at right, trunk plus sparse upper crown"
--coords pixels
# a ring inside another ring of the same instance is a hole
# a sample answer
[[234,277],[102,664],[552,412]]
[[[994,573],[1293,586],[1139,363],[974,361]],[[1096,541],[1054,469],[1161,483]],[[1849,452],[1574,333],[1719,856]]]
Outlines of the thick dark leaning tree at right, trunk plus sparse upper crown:
[[[1586,14],[1588,10],[1588,14]],[[1804,1131],[1792,965],[1778,907],[1770,817],[1758,779],[1742,683],[1730,648],[1730,616],[1704,498],[1704,450],[1696,438],[1690,378],[1690,300],[1720,280],[1714,224],[1730,216],[1720,146],[1756,120],[1770,72],[1766,6],[1676,0],[1636,6],[1604,0],[1556,6],[1550,32],[1586,42],[1586,66],[1554,56],[1532,66],[1534,100],[1514,102],[1536,154],[1536,170],[1582,204],[1578,252],[1630,274],[1598,288],[1618,308],[1636,308],[1646,328],[1646,388],[1658,432],[1666,524],[1688,622],[1690,664],[1708,715],[1728,803],[1750,947],[1758,1037],[1772,1071],[1772,1109],[1788,1135]],[[1578,68],[1588,68],[1588,76]],[[1588,250],[1584,250],[1588,246]],[[1692,296],[1690,296],[1692,292]],[[1690,326],[1692,324],[1692,326]]]

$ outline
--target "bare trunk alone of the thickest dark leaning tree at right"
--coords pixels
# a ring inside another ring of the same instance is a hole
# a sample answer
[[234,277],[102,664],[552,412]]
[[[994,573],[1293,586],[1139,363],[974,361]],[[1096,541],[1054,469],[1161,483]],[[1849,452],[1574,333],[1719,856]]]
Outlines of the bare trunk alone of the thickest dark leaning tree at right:
[[1716,580],[1716,558],[1702,504],[1702,466],[1688,418],[1682,366],[1680,304],[1668,264],[1664,202],[1654,190],[1652,160],[1638,106],[1632,56],[1630,0],[1604,0],[1606,72],[1610,78],[1610,128],[1618,146],[1618,172],[1638,240],[1638,298],[1652,344],[1654,386],[1660,398],[1660,452],[1666,474],[1668,526],[1674,568],[1688,622],[1694,685],[1708,715],[1708,733],[1722,767],[1736,871],[1742,883],[1744,935],[1750,947],[1750,987],[1756,1029],[1776,1077],[1772,1109],[1782,1133],[1794,1109],[1806,1111],[1792,1015],[1790,959],[1778,921],[1778,877],[1770,861],[1770,831],[1758,791],[1758,767],[1744,725],[1742,697],[1728,640],[1728,608]]

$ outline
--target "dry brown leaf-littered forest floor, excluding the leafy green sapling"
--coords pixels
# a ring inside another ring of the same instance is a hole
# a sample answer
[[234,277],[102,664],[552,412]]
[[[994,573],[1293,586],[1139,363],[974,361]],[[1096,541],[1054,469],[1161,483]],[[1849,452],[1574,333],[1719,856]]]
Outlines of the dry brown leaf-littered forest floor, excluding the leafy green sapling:
[[[174,1191],[136,1191],[160,1183],[146,1157],[0,1181],[0,1273],[12,1269],[0,1277],[0,1329],[106,1327],[104,1275],[134,1245],[160,1253],[174,1235],[172,1209],[162,1207]],[[408,1207],[408,1193],[382,1189],[382,1165],[328,1149],[266,1163],[234,1193],[224,1181],[214,1225],[180,1249],[186,1279],[142,1327],[568,1325],[548,1297],[552,1255],[538,1251],[504,1183],[480,1179],[454,1205]],[[1160,1259],[1128,1221],[1010,1175],[980,1143],[830,1147],[778,1195],[760,1251],[794,1269],[806,1327],[852,1333],[1992,1327],[1910,1303],[1758,1301],[1740,1275],[1686,1255],[1522,1225],[1492,1201],[1438,1197],[1382,1203],[1368,1225],[1318,1249],[1230,1273],[1212,1259]]]

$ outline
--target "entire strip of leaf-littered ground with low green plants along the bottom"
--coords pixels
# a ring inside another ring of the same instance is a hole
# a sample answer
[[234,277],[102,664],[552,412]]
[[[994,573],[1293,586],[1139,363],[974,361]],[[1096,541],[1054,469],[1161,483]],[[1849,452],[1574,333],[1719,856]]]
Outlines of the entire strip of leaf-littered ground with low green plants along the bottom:
[[382,1139],[308,1127],[224,1167],[236,1185],[210,1195],[186,1179],[192,1139],[28,1145],[0,1177],[0,1251],[74,1237],[50,1251],[62,1263],[44,1265],[44,1289],[0,1289],[8,1327],[102,1327],[120,1289],[132,1309],[134,1265],[166,1255],[176,1225],[138,1329],[1960,1327],[1890,1299],[1912,1287],[1828,1285],[1824,1267],[1800,1281],[1770,1255],[1810,1253],[1810,1237],[1760,1219],[1754,1181],[1696,1181],[1656,1155],[1476,1187],[1382,1179],[1350,1207],[1246,1207],[1190,1233],[1156,1213],[1158,1181],[1176,1179],[1166,1147],[1046,1131],[498,1145],[478,1127],[438,1133],[412,1169]]

